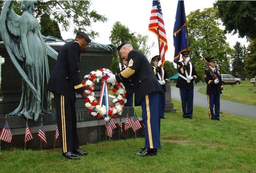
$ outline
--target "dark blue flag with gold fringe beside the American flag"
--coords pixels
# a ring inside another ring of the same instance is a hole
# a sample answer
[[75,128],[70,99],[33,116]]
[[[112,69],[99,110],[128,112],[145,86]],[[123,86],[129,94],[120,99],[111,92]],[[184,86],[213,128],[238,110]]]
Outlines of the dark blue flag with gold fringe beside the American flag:
[[173,61],[177,63],[180,60],[180,52],[190,49],[190,41],[188,38],[188,25],[183,0],[178,1],[173,29],[173,40],[175,48]]

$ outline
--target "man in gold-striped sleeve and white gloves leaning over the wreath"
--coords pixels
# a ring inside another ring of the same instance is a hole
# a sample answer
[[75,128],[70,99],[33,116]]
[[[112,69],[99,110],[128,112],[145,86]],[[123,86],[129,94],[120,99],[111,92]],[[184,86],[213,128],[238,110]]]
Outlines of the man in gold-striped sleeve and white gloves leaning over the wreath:
[[142,121],[145,126],[145,147],[136,155],[156,155],[160,145],[160,86],[147,58],[130,43],[117,48],[122,58],[128,60],[128,68],[117,75],[110,75],[107,82],[123,82],[129,78],[135,96],[135,106],[142,107]]

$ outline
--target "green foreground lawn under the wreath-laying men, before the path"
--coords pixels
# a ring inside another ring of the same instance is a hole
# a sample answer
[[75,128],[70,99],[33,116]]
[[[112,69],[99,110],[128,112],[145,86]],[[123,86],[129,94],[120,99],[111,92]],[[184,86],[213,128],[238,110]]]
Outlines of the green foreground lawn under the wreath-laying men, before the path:
[[[256,173],[256,119],[225,113],[223,121],[210,120],[198,106],[195,119],[183,119],[180,102],[172,102],[177,111],[161,120],[156,156],[135,155],[144,138],[82,145],[89,154],[79,161],[62,157],[60,149],[13,149],[1,152],[0,173]],[[141,108],[135,110],[140,117]]]

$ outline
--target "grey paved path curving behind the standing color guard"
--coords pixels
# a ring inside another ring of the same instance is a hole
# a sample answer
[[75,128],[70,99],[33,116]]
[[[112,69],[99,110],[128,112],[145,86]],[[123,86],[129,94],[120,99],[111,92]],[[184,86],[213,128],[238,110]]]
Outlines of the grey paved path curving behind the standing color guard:
[[[194,105],[208,108],[208,101],[206,95],[199,93],[198,89],[206,86],[195,86],[194,87]],[[172,99],[180,101],[179,88],[171,87]],[[221,95],[220,95],[221,98]],[[235,115],[241,115],[244,117],[256,118],[256,106],[246,105],[242,103],[236,103],[233,101],[227,101],[220,99],[220,111],[228,112]]]

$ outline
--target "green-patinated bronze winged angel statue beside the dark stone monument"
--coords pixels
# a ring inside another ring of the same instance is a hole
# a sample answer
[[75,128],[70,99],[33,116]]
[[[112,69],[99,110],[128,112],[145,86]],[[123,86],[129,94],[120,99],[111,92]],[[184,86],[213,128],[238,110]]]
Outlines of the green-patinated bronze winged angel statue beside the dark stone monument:
[[19,106],[9,115],[24,115],[37,121],[40,114],[50,110],[50,93],[46,91],[49,79],[47,54],[57,59],[58,53],[48,46],[41,26],[32,15],[35,0],[22,0],[19,16],[12,9],[13,1],[6,1],[0,15],[0,32],[10,60],[22,76],[22,96]]

